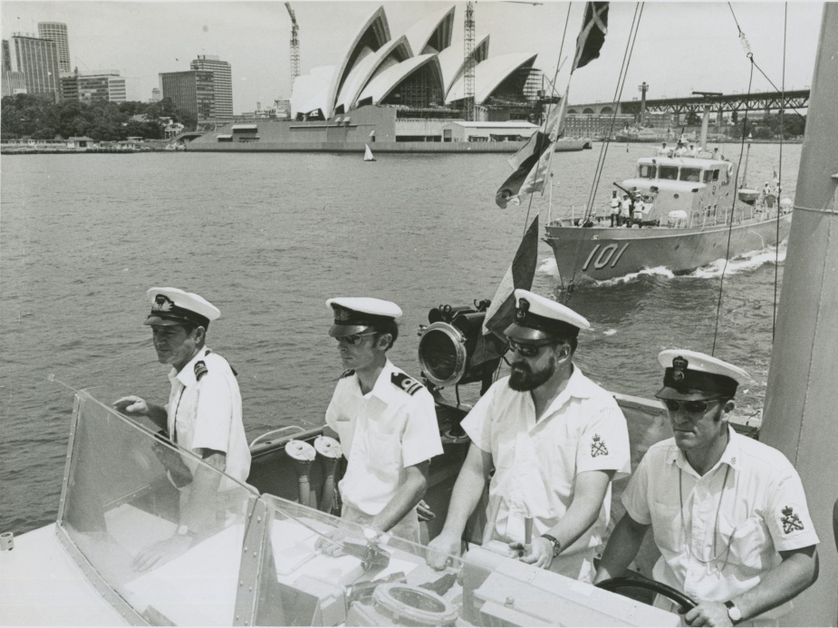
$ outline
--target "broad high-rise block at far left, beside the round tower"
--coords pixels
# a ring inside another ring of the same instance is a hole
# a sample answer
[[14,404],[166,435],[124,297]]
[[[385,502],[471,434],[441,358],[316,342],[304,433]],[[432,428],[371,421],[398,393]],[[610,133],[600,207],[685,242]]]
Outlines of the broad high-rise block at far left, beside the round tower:
[[[26,93],[52,101],[61,98],[55,42],[33,34],[15,33],[8,40],[3,40],[2,52],[4,72],[5,68],[8,68],[8,72],[20,72]],[[11,76],[9,82],[12,82]]]

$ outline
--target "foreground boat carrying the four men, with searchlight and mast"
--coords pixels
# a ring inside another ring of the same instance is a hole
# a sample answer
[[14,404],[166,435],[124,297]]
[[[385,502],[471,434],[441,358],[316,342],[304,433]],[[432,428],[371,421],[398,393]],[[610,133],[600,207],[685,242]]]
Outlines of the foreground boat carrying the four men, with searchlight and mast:
[[[834,625],[838,554],[833,551],[838,463],[831,419],[838,380],[838,5],[824,6],[809,126],[789,238],[785,282],[760,440],[795,463],[822,544],[819,580],[795,600],[788,625]],[[479,382],[468,369],[463,332],[480,320],[474,308],[445,308],[436,330],[456,349],[450,360],[423,362],[435,379]],[[461,320],[459,317],[462,316]],[[477,324],[479,328],[479,324]],[[430,326],[424,331],[429,335]],[[420,359],[422,358],[420,342]],[[434,343],[440,344],[440,343]],[[426,354],[426,358],[427,358]],[[426,374],[428,374],[426,372]],[[445,378],[445,379],[443,379]],[[169,447],[148,425],[111,408],[121,391],[78,391],[57,521],[24,535],[0,535],[0,622],[15,625],[678,625],[679,617],[602,589],[471,546],[432,572],[426,549],[340,522],[325,510],[336,457],[320,429],[285,428],[252,443],[248,484],[226,478],[229,517],[188,551],[140,572],[132,556],[177,533],[178,493],[154,449]],[[615,395],[628,421],[637,462],[669,437],[659,401]],[[458,433],[466,408],[439,397],[445,452],[434,459],[426,500],[445,518],[467,442]],[[809,426],[811,425],[811,429]],[[313,443],[315,454],[301,443]],[[318,447],[318,444],[320,445]],[[185,451],[171,451],[180,456]],[[197,460],[197,464],[203,464]],[[208,472],[216,472],[207,469]],[[220,478],[219,478],[220,479]],[[619,485],[614,491],[619,494]],[[615,495],[612,517],[619,518]],[[478,511],[481,508],[477,508]],[[479,512],[467,528],[479,539]],[[838,527],[838,526],[836,526]],[[340,535],[335,531],[340,529]],[[324,538],[325,536],[325,538]],[[323,541],[323,542],[321,542]],[[340,545],[330,556],[323,543]],[[642,565],[639,565],[642,568]],[[689,604],[689,600],[684,600]]]

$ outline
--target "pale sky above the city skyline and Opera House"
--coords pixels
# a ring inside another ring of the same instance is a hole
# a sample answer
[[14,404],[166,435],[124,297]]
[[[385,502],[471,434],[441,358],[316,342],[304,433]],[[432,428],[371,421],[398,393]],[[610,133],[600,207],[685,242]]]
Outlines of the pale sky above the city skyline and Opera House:
[[[456,5],[455,39],[462,39],[465,3],[314,2],[291,3],[300,26],[301,70],[340,63],[366,19],[384,5],[390,35],[403,34],[423,16]],[[731,11],[732,6],[732,11]],[[754,61],[775,85],[809,87],[823,5],[781,3],[647,2],[631,52],[621,100],[687,96],[693,91],[746,92],[751,64],[739,43],[737,22]],[[601,57],[574,73],[571,104],[613,101],[637,5],[612,3]],[[786,16],[787,11],[787,16]],[[560,58],[573,53],[583,3],[480,1],[475,5],[477,41],[491,34],[490,54],[538,53],[535,67],[553,77]],[[284,4],[265,2],[0,2],[3,38],[37,34],[38,22],[67,24],[72,65],[79,70],[117,69],[127,77],[130,100],[148,101],[159,72],[189,69],[197,54],[231,63],[236,113],[254,111],[291,94],[291,20]],[[567,62],[557,85],[567,83]],[[773,91],[758,71],[752,91]]]

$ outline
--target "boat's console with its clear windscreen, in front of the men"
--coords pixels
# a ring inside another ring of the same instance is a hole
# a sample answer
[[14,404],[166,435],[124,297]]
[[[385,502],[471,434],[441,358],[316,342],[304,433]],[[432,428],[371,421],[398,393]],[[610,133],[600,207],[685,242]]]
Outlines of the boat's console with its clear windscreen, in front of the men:
[[[211,515],[184,535],[178,509],[190,484],[176,487],[168,467],[189,454],[113,411],[115,398],[102,389],[77,395],[54,530],[128,623],[679,624],[677,615],[479,546],[435,571],[425,546],[260,495],[210,467],[203,470],[219,476]],[[143,564],[149,551],[159,562]]]

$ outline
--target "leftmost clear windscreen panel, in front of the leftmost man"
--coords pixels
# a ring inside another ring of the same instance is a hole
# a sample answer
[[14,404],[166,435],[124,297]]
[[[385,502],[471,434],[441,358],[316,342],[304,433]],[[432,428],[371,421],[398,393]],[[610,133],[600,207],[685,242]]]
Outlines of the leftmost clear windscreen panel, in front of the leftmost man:
[[108,405],[78,395],[59,535],[147,622],[232,625],[255,491],[121,416],[106,396]]

